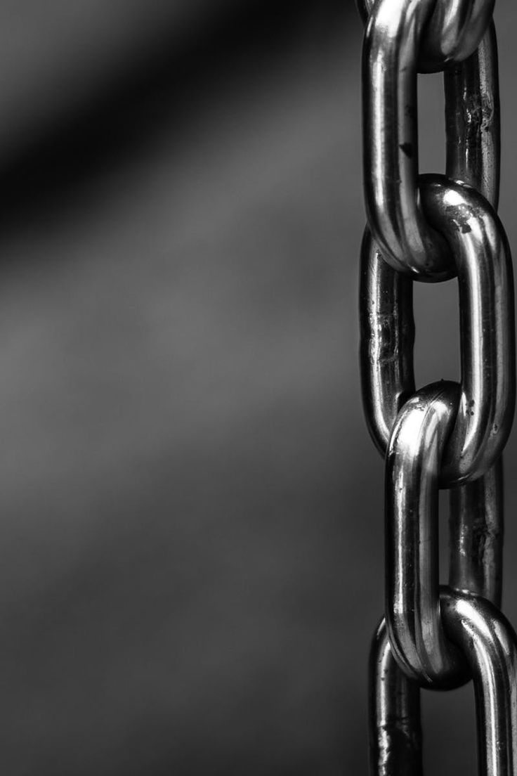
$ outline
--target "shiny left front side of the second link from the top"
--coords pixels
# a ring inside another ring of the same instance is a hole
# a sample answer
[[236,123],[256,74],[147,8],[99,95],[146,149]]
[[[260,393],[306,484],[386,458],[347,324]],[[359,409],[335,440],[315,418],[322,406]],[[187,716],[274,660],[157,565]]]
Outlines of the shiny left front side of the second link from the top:
[[438,281],[453,258],[417,201],[417,57],[434,0],[379,0],[363,48],[364,195],[384,259],[400,272]]

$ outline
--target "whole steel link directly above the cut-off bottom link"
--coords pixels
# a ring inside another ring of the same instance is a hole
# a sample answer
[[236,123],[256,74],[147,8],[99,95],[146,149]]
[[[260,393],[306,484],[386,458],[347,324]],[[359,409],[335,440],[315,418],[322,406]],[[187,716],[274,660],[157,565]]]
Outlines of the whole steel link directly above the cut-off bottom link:
[[[438,482],[459,391],[442,381],[420,390],[398,414],[386,456],[386,618],[408,676],[429,687],[466,678],[439,615]],[[501,598],[501,466],[451,493],[450,584]]]

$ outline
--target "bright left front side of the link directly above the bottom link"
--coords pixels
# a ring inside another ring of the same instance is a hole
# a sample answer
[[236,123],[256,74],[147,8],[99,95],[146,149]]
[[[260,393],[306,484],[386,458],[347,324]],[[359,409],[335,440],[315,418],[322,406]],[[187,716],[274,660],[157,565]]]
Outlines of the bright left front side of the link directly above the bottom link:
[[398,414],[386,456],[386,622],[409,677],[430,687],[467,674],[439,616],[438,480],[457,414],[455,383],[433,383]]

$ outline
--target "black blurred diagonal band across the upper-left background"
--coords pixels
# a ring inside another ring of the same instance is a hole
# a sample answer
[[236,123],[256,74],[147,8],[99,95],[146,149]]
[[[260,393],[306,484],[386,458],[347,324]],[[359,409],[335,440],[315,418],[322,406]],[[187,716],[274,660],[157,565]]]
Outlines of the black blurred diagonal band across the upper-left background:
[[253,90],[264,73],[274,78],[275,63],[304,31],[317,40],[339,30],[345,45],[346,20],[357,25],[356,17],[351,2],[277,0],[215,5],[181,40],[165,29],[161,40],[115,78],[106,74],[95,95],[60,113],[43,135],[36,126],[9,158],[0,151],[0,240],[27,220],[46,220],[57,206],[73,206],[72,189],[136,154],[163,123],[170,126],[171,116],[179,139],[219,84]]

